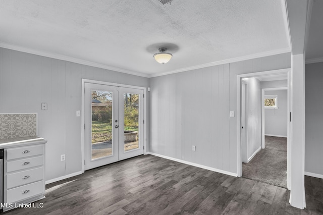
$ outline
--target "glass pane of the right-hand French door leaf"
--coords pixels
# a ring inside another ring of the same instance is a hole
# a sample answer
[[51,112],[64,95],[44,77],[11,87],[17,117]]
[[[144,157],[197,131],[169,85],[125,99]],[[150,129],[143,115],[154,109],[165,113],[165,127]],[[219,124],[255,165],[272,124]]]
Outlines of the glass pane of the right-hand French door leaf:
[[124,93],[124,151],[139,148],[139,94]]

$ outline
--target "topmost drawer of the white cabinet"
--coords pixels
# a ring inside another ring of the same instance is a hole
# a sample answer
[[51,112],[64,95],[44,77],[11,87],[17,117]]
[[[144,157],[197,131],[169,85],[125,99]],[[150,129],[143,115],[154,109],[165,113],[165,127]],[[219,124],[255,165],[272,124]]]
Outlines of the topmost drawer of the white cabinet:
[[44,153],[43,145],[31,145],[7,149],[7,160],[40,155]]

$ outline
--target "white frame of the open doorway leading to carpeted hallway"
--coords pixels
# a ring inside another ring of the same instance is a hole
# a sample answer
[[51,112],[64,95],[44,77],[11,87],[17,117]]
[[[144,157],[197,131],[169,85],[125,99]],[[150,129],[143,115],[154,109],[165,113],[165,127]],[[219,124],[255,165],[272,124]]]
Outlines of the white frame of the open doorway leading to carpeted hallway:
[[[255,76],[266,76],[274,74],[288,74],[288,110],[290,110],[290,72],[291,69],[280,69],[280,70],[271,70],[263,72],[254,72],[237,75],[237,176],[242,176],[242,156],[241,156],[241,79],[242,78],[251,78]],[[290,189],[291,185],[291,136],[290,136],[290,127],[291,123],[288,122],[287,129],[287,189]],[[261,128],[262,129],[262,128]],[[264,140],[262,140],[264,141]],[[261,145],[264,144],[261,142]]]

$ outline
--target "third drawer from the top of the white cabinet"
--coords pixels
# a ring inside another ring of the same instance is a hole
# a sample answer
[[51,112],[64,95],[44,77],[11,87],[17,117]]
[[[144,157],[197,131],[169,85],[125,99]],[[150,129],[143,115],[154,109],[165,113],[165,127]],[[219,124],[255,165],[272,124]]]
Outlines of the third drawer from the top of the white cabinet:
[[43,180],[44,168],[25,170],[7,175],[7,189]]

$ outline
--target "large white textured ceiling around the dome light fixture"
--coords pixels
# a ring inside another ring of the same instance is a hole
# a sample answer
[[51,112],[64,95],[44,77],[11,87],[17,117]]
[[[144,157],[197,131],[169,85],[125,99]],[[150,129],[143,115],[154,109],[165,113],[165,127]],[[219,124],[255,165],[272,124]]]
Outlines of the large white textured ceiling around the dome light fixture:
[[[287,52],[283,5],[281,0],[166,5],[158,0],[2,0],[0,45],[151,77]],[[165,65],[152,57],[161,46],[173,54]]]

